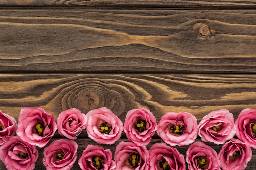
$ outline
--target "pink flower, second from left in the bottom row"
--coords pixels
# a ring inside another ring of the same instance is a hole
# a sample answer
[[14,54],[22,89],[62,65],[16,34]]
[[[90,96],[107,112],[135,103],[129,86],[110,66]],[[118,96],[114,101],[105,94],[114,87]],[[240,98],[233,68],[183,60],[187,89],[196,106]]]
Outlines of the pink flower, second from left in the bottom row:
[[44,148],[43,164],[47,170],[70,170],[76,161],[77,149],[74,140],[54,140]]

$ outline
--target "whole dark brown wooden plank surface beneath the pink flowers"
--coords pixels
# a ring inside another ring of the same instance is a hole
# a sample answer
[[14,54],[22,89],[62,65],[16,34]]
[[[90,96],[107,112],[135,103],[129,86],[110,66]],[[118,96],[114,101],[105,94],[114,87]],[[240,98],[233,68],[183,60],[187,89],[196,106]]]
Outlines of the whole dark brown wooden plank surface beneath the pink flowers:
[[[55,120],[72,107],[108,107],[122,122],[140,107],[157,122],[168,111],[199,122],[218,109],[235,119],[256,109],[254,0],[0,0],[0,8],[0,109],[16,119],[22,107]],[[78,159],[97,144],[85,130],[75,141]],[[98,145],[114,153],[120,141],[124,133]],[[185,155],[188,146],[176,148]],[[38,151],[35,169],[45,169]],[[253,149],[247,170],[255,166]]]

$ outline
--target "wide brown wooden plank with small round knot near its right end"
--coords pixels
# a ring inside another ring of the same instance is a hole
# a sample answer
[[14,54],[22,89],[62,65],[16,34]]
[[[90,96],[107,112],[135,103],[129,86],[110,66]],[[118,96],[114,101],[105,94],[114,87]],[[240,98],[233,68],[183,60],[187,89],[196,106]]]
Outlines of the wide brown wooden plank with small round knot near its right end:
[[256,10],[2,9],[0,72],[256,72],[254,18]]

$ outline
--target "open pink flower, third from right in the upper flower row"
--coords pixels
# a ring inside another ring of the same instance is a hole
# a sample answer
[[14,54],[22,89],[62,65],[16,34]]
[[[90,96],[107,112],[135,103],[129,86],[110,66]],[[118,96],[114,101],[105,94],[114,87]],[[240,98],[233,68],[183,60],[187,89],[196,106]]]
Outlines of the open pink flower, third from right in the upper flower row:
[[158,123],[157,134],[171,146],[188,145],[198,134],[197,119],[187,112],[168,112]]

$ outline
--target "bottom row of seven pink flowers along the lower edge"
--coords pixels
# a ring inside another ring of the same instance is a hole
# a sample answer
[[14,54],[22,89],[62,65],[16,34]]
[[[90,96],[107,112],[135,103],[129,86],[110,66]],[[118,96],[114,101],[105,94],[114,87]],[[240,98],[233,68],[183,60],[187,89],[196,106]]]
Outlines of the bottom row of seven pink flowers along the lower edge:
[[[74,140],[53,141],[44,148],[43,164],[47,170],[70,170],[77,149]],[[244,170],[251,158],[249,145],[234,138],[222,146],[219,154],[202,142],[194,142],[186,151],[189,170]],[[0,159],[8,170],[33,170],[38,151],[36,146],[13,136],[1,146]],[[155,143],[147,150],[145,145],[122,141],[116,147],[114,160],[110,149],[89,144],[78,164],[82,170],[186,170],[184,156],[166,143]]]

